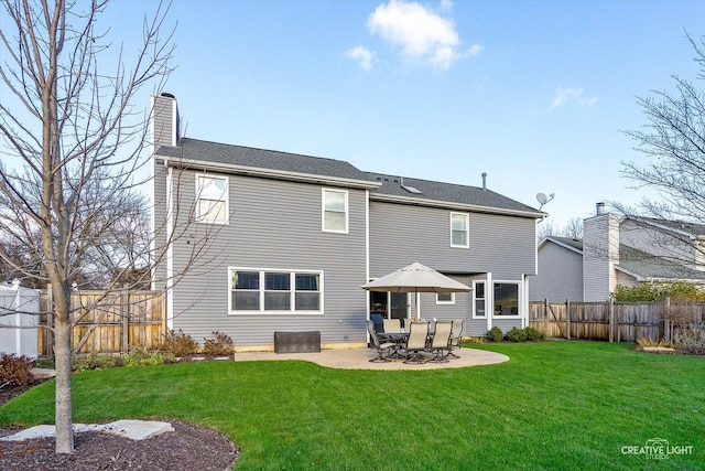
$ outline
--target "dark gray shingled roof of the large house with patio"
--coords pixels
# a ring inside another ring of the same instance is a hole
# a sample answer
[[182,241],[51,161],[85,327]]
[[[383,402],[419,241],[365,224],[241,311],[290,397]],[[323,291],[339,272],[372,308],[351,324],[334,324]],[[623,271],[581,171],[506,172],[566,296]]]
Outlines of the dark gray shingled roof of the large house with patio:
[[[364,172],[343,160],[182,138],[180,147],[162,146],[155,157],[180,160],[223,171],[275,172],[278,178],[321,178],[352,182],[368,188],[370,197],[406,204],[466,207],[541,217],[544,213],[491,190],[452,183]],[[271,176],[271,175],[270,175]],[[403,182],[403,185],[402,185]],[[416,192],[410,189],[416,189]]]

